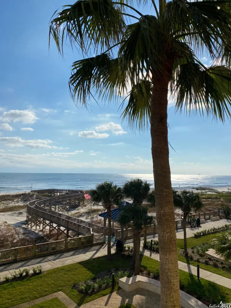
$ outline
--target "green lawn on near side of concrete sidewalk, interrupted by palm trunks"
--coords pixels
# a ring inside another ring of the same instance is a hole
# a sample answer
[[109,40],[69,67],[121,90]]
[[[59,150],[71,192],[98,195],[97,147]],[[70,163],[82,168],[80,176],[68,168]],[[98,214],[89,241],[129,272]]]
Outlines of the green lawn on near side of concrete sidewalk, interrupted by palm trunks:
[[[93,278],[97,273],[106,269],[116,267],[129,267],[130,258],[113,254],[112,261],[108,261],[105,256],[91,260],[74,263],[63,267],[48,270],[45,274],[26,278],[22,281],[5,283],[0,286],[0,307],[7,308],[13,305],[25,303],[29,300],[63,291],[76,304],[82,305],[91,300],[109,294],[111,289],[103,290],[94,295],[83,295],[75,289],[71,289],[74,283]],[[151,272],[159,271],[159,262],[144,256],[141,265]],[[201,297],[211,303],[231,302],[231,289],[221,287],[215,283],[201,279],[198,282],[196,276],[187,272],[180,272],[181,283],[190,293]],[[116,290],[116,289],[115,289]],[[114,290],[114,291],[115,291]]]

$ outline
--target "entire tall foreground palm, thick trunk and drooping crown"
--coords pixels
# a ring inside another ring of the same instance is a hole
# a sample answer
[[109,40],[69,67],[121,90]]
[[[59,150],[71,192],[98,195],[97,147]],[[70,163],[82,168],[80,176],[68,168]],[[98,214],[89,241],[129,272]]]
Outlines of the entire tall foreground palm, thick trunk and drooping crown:
[[[230,0],[155,0],[142,14],[132,0],[78,0],[50,23],[58,51],[68,39],[84,59],[72,65],[69,89],[77,104],[123,101],[122,116],[150,125],[157,208],[162,308],[179,308],[179,272],[168,147],[168,91],[176,110],[230,118]],[[152,6],[150,8],[150,6]],[[201,63],[201,53],[214,61]],[[92,57],[92,54],[96,56]],[[215,61],[217,60],[217,62]],[[131,90],[129,90],[131,89]],[[124,105],[125,104],[125,105]]]

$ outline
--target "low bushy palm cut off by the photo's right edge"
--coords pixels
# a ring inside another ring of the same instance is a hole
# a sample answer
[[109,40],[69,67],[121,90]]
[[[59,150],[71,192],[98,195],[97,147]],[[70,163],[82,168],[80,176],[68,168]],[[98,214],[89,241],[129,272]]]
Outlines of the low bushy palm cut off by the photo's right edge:
[[214,249],[224,261],[231,262],[231,231],[221,232],[213,239]]

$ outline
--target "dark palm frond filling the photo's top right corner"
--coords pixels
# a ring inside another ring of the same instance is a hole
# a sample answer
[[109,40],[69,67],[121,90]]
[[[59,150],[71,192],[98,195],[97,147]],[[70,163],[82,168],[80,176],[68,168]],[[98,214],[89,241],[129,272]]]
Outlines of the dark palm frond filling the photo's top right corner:
[[168,32],[188,44],[195,52],[210,53],[215,59],[221,55],[223,46],[230,44],[230,10],[223,9],[230,1],[169,1],[163,12]]

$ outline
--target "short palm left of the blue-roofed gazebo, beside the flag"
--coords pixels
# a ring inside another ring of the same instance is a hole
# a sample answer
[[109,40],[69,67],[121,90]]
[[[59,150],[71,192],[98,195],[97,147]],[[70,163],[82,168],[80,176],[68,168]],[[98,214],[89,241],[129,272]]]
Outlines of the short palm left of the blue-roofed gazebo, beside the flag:
[[103,182],[96,185],[96,188],[91,190],[91,199],[96,203],[102,203],[104,210],[107,211],[108,219],[108,234],[107,234],[107,256],[111,257],[111,208],[113,205],[119,206],[123,201],[123,191],[113,182]]

